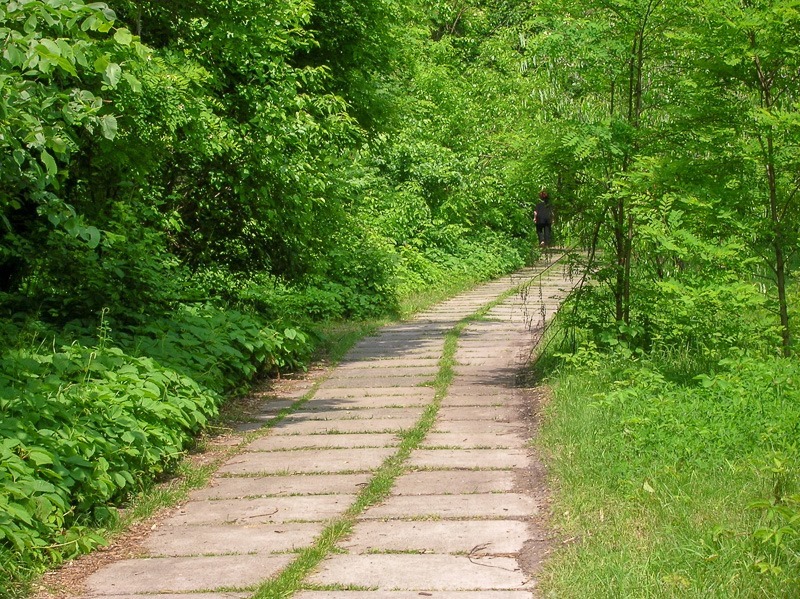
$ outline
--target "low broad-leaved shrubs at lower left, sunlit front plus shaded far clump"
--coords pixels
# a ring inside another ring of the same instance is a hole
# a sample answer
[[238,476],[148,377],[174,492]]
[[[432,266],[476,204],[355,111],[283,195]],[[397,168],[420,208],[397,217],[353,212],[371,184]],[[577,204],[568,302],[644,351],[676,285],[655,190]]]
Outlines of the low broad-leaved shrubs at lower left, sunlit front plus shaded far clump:
[[[0,333],[52,334],[39,325],[9,320]],[[62,339],[70,332],[86,335],[73,324]],[[143,320],[114,340],[104,320],[95,346],[0,357],[0,581],[102,542],[90,527],[168,471],[225,393],[259,372],[297,368],[311,351],[296,328],[210,305]]]

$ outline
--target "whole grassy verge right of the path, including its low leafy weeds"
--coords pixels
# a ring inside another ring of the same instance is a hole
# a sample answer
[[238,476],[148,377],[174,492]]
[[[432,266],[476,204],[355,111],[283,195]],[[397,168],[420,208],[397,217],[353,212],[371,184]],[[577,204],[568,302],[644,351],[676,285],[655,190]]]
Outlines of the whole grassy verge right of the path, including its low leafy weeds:
[[584,355],[550,381],[537,444],[563,545],[544,596],[800,596],[796,365],[674,382],[625,362]]

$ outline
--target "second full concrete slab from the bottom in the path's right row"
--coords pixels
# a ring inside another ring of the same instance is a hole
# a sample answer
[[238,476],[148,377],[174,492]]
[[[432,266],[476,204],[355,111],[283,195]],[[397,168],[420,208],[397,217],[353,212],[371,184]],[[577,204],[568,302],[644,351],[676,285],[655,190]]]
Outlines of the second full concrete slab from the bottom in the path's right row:
[[518,520],[364,521],[340,546],[349,553],[498,555],[519,552],[527,539],[528,526]]

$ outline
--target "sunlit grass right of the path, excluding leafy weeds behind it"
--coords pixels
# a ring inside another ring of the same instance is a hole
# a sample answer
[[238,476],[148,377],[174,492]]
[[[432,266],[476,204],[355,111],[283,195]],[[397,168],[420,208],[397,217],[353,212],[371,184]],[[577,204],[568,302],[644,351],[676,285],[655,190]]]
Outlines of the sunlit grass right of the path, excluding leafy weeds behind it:
[[[676,417],[665,410],[664,422],[654,428],[679,420],[687,443],[692,435],[708,436],[708,455],[676,459],[671,445],[680,447],[680,438],[637,445],[636,414],[652,418],[648,404],[663,393],[630,396],[629,425],[621,424],[602,401],[614,387],[611,362],[594,373],[564,368],[551,381],[554,399],[536,444],[549,465],[551,524],[561,544],[542,575],[543,596],[800,596],[800,560],[787,561],[791,548],[771,553],[753,537],[764,520],[748,506],[769,497],[774,486],[764,467],[769,452],[742,446],[741,453],[719,455],[708,430],[713,422],[690,411]],[[797,471],[786,478],[788,490],[796,490]],[[793,534],[796,541],[796,526],[794,533],[789,529],[787,538]],[[760,572],[760,559],[779,570]]]

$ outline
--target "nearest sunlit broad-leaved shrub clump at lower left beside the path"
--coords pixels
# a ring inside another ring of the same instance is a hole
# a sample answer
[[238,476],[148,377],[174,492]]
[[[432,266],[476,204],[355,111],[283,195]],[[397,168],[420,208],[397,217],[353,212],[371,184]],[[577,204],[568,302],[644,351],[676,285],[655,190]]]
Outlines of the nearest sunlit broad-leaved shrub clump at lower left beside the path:
[[150,358],[78,344],[0,359],[3,576],[101,542],[108,502],[175,463],[221,396]]

